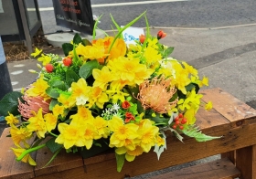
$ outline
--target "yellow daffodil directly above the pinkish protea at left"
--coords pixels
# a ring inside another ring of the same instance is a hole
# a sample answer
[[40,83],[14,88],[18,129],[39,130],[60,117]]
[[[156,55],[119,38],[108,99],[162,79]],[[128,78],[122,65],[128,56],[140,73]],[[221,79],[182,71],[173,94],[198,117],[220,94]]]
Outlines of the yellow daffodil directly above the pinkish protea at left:
[[34,82],[31,85],[31,88],[26,90],[28,97],[37,97],[41,96],[44,98],[44,100],[50,99],[48,94],[46,93],[46,89],[48,89],[48,82],[43,79],[41,76],[39,79],[37,79],[36,82]]

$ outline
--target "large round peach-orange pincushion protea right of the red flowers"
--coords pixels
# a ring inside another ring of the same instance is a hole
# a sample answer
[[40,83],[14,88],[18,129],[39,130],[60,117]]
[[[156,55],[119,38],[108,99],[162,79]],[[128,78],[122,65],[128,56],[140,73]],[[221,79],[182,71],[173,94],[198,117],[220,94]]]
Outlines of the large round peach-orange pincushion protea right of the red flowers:
[[175,88],[170,88],[171,79],[156,77],[152,80],[145,80],[140,85],[137,99],[141,101],[144,110],[152,109],[158,113],[170,111],[177,102],[177,99],[170,102],[169,100],[176,93]]

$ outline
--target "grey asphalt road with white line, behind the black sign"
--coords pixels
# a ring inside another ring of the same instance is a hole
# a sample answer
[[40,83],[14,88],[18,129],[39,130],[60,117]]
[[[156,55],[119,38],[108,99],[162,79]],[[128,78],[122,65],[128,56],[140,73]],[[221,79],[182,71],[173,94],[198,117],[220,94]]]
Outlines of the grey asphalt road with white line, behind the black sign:
[[[123,26],[145,10],[150,26],[174,26],[193,28],[212,28],[219,26],[237,26],[254,24],[256,20],[255,0],[92,0],[92,13],[101,16],[99,27],[112,29],[110,14]],[[124,4],[124,5],[123,5]],[[51,0],[38,1],[45,33],[57,30],[69,30],[55,26],[55,16]],[[42,9],[44,8],[44,9]],[[144,19],[133,26],[144,27]]]

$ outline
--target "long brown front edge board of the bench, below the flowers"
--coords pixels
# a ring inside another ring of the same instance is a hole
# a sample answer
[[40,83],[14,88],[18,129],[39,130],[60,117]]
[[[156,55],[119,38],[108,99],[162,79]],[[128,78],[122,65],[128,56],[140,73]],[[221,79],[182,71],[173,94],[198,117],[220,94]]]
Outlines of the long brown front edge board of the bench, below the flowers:
[[[229,131],[216,132],[223,135],[222,139],[209,142],[196,142],[187,138],[184,142],[178,142],[174,138],[167,138],[167,150],[157,160],[154,152],[144,153],[136,157],[132,162],[125,162],[121,173],[116,172],[115,158],[101,156],[99,163],[86,164],[84,167],[74,168],[60,172],[60,178],[123,178],[124,176],[136,176],[164,169],[176,164],[187,163],[197,159],[212,156],[218,153],[227,153],[242,147],[256,144],[256,123],[232,128]],[[250,138],[248,137],[250,136]],[[171,140],[172,139],[172,140]],[[104,157],[108,160],[104,160]],[[94,157],[91,157],[93,160]]]

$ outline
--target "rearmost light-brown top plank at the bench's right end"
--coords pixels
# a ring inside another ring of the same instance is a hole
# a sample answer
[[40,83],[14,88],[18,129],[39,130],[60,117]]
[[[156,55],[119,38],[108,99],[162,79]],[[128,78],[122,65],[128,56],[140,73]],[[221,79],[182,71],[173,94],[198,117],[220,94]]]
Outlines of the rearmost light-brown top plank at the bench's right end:
[[205,89],[201,91],[204,94],[203,100],[213,102],[213,108],[219,111],[225,118],[231,121],[233,127],[242,125],[245,119],[251,119],[256,121],[256,110],[251,108],[244,102],[236,99],[228,92],[216,88],[216,89]]

